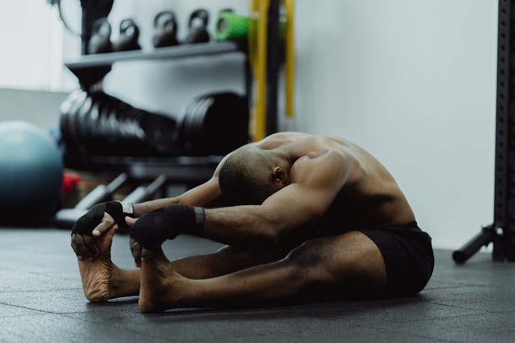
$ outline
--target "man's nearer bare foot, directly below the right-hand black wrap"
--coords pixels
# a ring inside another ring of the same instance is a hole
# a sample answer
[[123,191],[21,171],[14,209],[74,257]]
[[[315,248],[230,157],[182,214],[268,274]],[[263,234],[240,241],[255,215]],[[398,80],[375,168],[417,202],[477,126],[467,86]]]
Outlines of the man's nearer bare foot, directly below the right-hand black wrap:
[[141,312],[159,312],[176,307],[178,283],[185,278],[170,270],[170,262],[161,247],[141,251],[140,273],[138,304]]

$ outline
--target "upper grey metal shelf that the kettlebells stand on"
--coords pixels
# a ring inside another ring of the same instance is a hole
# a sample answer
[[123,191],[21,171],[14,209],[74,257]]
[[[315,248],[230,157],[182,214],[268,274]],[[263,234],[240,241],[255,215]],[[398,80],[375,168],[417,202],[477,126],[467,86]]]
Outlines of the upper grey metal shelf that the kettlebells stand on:
[[70,71],[75,72],[80,69],[111,67],[115,62],[188,58],[242,51],[243,50],[240,48],[240,45],[234,42],[209,42],[176,45],[174,47],[159,47],[148,51],[131,50],[108,52],[105,54],[82,55],[78,58],[67,60],[65,65]]

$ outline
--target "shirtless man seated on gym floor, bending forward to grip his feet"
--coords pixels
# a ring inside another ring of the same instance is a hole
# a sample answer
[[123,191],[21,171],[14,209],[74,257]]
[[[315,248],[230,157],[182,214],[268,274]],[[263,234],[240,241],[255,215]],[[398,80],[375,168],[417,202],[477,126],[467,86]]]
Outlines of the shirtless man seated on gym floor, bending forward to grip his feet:
[[[225,156],[181,196],[110,203],[72,230],[91,301],[139,294],[141,311],[152,312],[411,296],[433,272],[431,237],[396,181],[336,137],[272,134]],[[113,234],[126,225],[135,270],[111,261]],[[169,261],[161,244],[181,233],[227,246]]]

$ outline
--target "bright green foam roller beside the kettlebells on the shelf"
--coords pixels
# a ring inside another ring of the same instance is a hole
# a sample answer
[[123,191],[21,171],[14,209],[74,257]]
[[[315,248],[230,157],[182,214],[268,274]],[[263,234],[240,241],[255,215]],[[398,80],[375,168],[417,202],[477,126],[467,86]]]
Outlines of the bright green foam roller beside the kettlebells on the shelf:
[[[286,24],[279,23],[282,36],[286,31]],[[249,16],[242,16],[229,11],[218,14],[215,25],[216,40],[242,40],[249,34]]]

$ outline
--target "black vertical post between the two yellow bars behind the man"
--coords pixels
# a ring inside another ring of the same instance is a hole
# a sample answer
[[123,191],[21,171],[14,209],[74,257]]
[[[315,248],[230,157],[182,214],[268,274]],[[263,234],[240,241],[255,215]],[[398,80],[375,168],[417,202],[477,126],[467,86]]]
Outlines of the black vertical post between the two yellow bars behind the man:
[[266,56],[266,134],[277,132],[277,80],[281,41],[279,36],[279,0],[268,8],[268,49]]

